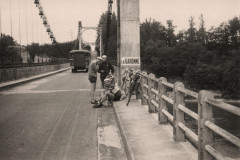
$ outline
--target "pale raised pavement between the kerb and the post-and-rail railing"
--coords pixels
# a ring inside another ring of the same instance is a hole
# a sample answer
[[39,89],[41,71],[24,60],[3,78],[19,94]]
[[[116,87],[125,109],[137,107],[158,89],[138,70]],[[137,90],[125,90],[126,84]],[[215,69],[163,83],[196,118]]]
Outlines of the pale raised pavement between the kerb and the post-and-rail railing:
[[172,127],[159,125],[156,114],[149,114],[137,100],[114,104],[128,156],[137,160],[192,160],[197,150],[189,142],[174,142]]

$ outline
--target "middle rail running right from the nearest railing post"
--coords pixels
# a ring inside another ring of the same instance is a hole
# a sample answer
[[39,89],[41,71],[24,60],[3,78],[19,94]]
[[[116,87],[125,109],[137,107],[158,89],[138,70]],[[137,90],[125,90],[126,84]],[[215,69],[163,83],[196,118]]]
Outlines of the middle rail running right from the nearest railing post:
[[215,133],[219,134],[220,136],[226,138],[228,141],[232,142],[233,144],[235,144],[237,147],[240,147],[240,139],[234,135],[232,135],[231,133],[227,132],[226,130],[218,127],[217,125],[215,125],[214,123],[210,122],[210,121],[206,121],[204,123],[209,129],[211,129],[212,131],[214,131]]

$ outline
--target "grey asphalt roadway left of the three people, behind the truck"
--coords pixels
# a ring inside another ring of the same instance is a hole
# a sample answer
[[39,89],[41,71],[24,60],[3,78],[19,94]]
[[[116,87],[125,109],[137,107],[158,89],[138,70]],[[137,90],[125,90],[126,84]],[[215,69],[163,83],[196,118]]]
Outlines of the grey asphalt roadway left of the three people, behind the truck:
[[0,91],[0,159],[97,159],[89,88],[87,73],[66,71]]

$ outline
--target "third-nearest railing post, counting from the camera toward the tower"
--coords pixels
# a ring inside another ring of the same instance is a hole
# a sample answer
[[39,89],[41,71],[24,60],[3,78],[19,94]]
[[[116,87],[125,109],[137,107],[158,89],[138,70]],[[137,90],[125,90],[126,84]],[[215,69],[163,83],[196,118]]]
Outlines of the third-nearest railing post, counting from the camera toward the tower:
[[159,124],[166,124],[167,123],[167,117],[162,113],[162,109],[166,109],[167,110],[167,104],[165,102],[164,99],[162,99],[162,95],[166,95],[167,94],[167,89],[166,86],[164,86],[162,84],[162,81],[167,81],[166,78],[161,77],[158,80],[158,105],[159,105],[159,109],[158,109],[158,123]]

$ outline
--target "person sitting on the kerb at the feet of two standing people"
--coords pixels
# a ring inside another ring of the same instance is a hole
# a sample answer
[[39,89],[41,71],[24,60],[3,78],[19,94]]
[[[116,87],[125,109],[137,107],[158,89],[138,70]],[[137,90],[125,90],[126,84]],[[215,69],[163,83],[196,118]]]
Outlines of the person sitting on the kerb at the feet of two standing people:
[[100,108],[106,100],[119,101],[121,99],[121,90],[114,83],[113,79],[107,77],[104,80],[104,87],[105,90],[103,91],[102,97],[99,99],[98,103],[93,106],[93,108]]

